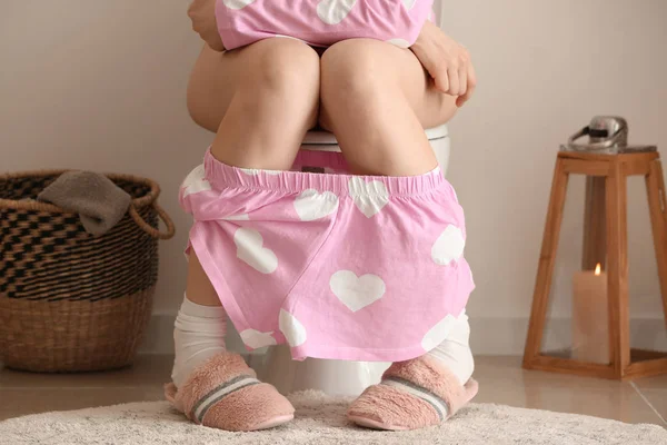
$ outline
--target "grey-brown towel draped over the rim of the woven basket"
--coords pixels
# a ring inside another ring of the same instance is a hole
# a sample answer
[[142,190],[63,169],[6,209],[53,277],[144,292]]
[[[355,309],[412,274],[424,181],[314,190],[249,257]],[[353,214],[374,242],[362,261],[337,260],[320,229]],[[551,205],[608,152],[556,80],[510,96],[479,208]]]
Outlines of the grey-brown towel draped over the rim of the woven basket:
[[92,171],[64,172],[37,199],[79,214],[86,231],[94,236],[113,228],[132,201],[130,195],[111,179]]

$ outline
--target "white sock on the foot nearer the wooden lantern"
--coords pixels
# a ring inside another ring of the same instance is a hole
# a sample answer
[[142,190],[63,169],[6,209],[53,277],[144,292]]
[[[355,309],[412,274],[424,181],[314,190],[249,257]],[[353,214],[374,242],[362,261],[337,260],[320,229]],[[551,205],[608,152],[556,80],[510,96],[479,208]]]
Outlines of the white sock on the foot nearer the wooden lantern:
[[429,356],[440,360],[461,385],[465,385],[475,370],[475,359],[468,344],[470,339],[470,325],[464,310],[457,318],[449,336],[440,345],[428,353]]

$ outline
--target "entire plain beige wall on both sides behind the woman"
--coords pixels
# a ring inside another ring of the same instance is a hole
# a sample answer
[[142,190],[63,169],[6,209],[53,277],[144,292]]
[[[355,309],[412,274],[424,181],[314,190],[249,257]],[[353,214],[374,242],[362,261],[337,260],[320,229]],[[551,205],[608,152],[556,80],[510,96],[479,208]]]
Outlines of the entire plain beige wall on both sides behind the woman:
[[[0,3],[0,170],[88,168],[158,180],[179,228],[161,245],[155,310],[168,315],[185,287],[188,218],[177,189],[211,140],[185,107],[200,48],[186,8],[158,0]],[[442,26],[470,49],[479,77],[477,96],[450,128],[450,179],[467,209],[478,285],[469,313],[479,352],[522,346],[559,142],[596,113],[618,113],[633,140],[667,146],[666,18],[665,0],[445,2]],[[640,181],[630,194],[633,314],[657,320]],[[569,268],[559,268],[560,288],[580,248],[580,208],[567,211],[561,251]],[[557,315],[566,316],[561,303]],[[166,338],[169,323],[156,328]]]

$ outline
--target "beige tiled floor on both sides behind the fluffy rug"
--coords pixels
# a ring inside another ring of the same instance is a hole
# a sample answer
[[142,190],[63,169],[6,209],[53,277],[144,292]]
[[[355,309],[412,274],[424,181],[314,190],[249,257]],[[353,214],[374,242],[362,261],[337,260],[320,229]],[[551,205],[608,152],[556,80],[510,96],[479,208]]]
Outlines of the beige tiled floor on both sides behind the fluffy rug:
[[[158,400],[169,356],[141,356],[133,368],[99,374],[0,372],[0,421],[47,411]],[[477,357],[475,402],[578,413],[667,427],[667,376],[618,383],[522,370],[518,357]]]

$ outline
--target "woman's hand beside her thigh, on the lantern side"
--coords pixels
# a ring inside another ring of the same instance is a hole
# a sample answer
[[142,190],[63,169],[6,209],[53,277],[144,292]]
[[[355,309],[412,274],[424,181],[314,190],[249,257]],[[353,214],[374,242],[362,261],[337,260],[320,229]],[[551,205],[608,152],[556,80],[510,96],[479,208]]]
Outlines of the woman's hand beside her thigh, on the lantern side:
[[427,21],[410,49],[434,78],[436,88],[457,97],[457,107],[462,107],[470,99],[477,86],[477,77],[470,62],[470,53],[462,44]]

